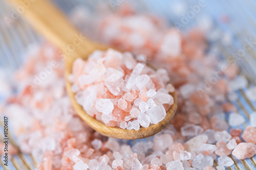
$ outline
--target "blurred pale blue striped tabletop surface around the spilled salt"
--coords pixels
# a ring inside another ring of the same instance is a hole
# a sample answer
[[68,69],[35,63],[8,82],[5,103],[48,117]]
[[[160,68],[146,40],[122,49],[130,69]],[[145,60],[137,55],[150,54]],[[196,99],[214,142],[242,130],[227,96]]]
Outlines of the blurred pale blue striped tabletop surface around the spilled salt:
[[[52,1],[87,36],[93,29],[93,22],[98,15],[105,12],[116,12],[125,4],[130,4],[140,13],[152,14],[164,18],[169,26],[181,32],[198,27],[205,34],[218,56],[226,59],[240,56],[238,64],[241,75],[248,80],[246,88],[237,90],[238,98],[231,98],[232,104],[239,108],[247,123],[249,113],[256,111],[256,102],[246,98],[245,91],[256,84],[256,1],[154,1],[154,0],[54,0]],[[198,8],[200,7],[200,8]],[[8,1],[0,1],[0,81],[10,77],[15,69],[26,60],[25,52],[31,44],[44,42],[38,33],[17,14]],[[250,45],[250,49],[245,48]],[[0,85],[0,100],[6,94],[4,85]],[[246,125],[241,126],[242,129]],[[2,132],[2,127],[0,128]],[[1,134],[2,135],[2,134]],[[3,139],[3,136],[0,137]],[[15,145],[15,136],[11,142]],[[133,142],[130,142],[132,145]],[[1,160],[2,161],[2,160]],[[36,160],[31,155],[19,153],[9,162],[10,166],[0,169],[33,169]],[[236,161],[230,169],[256,169],[256,157]]]

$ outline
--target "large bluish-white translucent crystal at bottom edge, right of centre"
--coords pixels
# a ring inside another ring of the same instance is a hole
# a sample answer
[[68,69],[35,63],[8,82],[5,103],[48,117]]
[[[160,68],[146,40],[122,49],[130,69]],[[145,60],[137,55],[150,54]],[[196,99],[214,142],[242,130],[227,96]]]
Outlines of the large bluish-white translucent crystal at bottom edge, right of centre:
[[205,166],[214,165],[214,160],[210,156],[197,155],[192,162],[192,166],[197,169],[203,169]]

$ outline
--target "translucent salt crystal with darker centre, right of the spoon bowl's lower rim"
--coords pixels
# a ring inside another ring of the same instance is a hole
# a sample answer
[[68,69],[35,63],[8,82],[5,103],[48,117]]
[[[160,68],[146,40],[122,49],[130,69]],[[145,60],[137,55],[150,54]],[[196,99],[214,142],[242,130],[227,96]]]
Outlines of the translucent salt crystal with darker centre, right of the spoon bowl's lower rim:
[[181,127],[181,135],[182,136],[197,136],[203,133],[203,128],[197,125],[185,125]]

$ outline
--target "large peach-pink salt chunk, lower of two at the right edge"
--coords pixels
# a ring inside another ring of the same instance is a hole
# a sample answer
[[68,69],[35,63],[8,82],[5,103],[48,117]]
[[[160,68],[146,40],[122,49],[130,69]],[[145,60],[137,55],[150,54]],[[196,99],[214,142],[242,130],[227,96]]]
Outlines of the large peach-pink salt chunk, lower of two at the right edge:
[[239,143],[233,150],[232,155],[237,159],[246,159],[253,157],[256,154],[256,144],[254,143]]

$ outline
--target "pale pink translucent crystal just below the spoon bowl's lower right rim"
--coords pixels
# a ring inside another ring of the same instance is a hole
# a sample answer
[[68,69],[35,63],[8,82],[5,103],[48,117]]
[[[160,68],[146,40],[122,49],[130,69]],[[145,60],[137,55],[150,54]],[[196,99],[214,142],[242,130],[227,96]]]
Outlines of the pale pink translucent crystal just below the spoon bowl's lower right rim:
[[154,151],[164,151],[173,143],[173,138],[169,134],[162,134],[154,136]]

